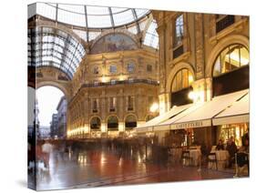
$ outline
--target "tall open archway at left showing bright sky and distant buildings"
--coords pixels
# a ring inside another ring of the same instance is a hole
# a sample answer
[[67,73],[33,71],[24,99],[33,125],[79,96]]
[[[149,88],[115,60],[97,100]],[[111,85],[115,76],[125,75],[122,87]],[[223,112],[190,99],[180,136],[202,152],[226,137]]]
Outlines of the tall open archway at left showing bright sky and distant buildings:
[[67,137],[67,97],[56,86],[36,88],[36,109],[38,119],[37,137]]

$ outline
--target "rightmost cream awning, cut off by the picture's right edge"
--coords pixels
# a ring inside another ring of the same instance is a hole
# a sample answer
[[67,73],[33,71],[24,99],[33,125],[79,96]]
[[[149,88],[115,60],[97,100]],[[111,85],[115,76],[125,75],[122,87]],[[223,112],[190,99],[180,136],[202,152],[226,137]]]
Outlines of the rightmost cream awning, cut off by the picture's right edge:
[[227,107],[218,116],[212,119],[212,125],[225,125],[246,123],[250,121],[249,94],[243,96],[241,100],[235,102],[232,106]]

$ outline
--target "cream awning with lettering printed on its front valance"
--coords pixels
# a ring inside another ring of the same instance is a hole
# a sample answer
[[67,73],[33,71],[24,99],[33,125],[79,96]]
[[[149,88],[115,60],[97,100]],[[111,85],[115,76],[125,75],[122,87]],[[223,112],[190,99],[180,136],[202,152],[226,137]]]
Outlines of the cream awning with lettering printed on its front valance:
[[246,89],[223,96],[216,96],[211,101],[204,103],[201,107],[172,123],[170,128],[210,127],[213,117],[217,116],[225,108],[230,107],[248,92],[249,89]]

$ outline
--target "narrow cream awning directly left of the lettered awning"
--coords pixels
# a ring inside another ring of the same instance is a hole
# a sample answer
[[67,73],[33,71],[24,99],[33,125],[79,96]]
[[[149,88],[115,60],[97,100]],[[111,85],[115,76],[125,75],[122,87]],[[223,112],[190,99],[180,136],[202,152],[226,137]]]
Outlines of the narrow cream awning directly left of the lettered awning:
[[172,107],[169,112],[159,116],[159,117],[154,117],[145,124],[142,124],[139,127],[135,127],[136,132],[138,133],[144,133],[144,132],[151,132],[153,131],[153,127],[157,126],[158,124],[166,121],[167,119],[176,116],[180,112],[184,111],[185,109],[191,107],[192,104],[189,105],[184,105],[184,106],[179,106],[179,107]]

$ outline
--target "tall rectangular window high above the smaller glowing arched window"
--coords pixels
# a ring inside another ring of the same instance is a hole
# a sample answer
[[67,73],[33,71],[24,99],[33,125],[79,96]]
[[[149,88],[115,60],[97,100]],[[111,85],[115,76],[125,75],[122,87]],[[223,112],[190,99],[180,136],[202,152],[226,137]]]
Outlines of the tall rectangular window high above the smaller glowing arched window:
[[182,39],[184,35],[184,21],[183,15],[179,15],[175,19],[175,30],[174,30],[174,47],[182,45]]

